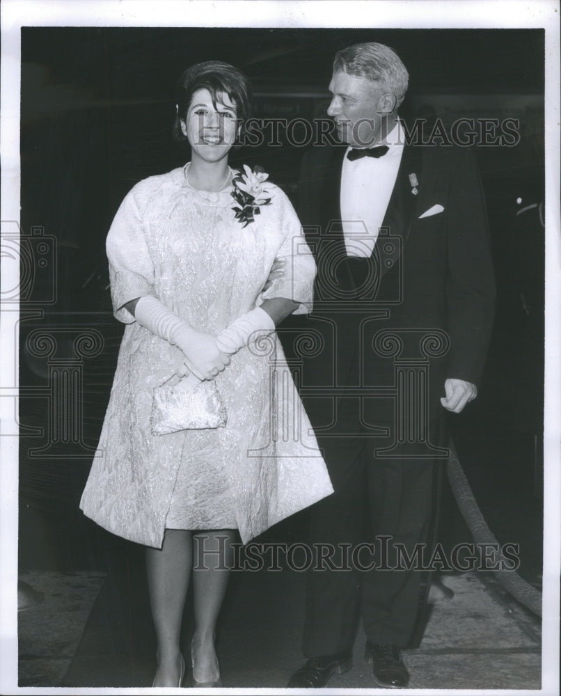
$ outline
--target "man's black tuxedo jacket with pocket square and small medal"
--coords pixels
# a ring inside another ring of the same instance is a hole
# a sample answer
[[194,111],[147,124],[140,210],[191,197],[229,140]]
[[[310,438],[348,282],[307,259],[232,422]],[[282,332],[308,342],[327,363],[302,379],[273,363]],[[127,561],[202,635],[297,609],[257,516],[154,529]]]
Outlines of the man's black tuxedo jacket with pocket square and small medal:
[[495,285],[475,157],[405,145],[374,253],[357,260],[342,236],[345,151],[315,148],[301,167],[299,216],[317,264],[313,312],[292,320],[310,335],[302,387],[379,387],[372,418],[388,421],[396,365],[424,364],[434,416],[445,379],[480,381],[491,336]]

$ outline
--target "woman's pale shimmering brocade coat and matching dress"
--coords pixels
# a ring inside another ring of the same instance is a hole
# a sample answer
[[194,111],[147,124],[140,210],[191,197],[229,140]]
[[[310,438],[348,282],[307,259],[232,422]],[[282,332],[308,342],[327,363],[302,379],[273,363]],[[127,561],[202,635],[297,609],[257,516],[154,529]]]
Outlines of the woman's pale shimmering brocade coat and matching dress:
[[[152,390],[184,356],[123,307],[150,294],[212,335],[266,297],[294,299],[306,313],[313,256],[285,193],[269,188],[271,203],[244,227],[231,187],[212,203],[177,168],[136,184],[113,220],[111,296],[127,326],[80,507],[121,537],[160,547],[166,527],[237,528],[246,543],[333,492],[276,334],[239,350],[216,377],[226,427],[153,435]],[[285,273],[262,293],[276,258]]]

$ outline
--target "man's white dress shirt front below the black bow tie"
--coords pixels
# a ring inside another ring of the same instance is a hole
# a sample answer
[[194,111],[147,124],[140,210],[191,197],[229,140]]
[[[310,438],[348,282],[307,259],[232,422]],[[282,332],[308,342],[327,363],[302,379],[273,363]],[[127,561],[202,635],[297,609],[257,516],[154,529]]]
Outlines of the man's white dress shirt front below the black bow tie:
[[383,157],[350,161],[347,152],[341,171],[341,220],[347,255],[368,258],[390,202],[403,154],[404,133],[399,121],[382,143]]

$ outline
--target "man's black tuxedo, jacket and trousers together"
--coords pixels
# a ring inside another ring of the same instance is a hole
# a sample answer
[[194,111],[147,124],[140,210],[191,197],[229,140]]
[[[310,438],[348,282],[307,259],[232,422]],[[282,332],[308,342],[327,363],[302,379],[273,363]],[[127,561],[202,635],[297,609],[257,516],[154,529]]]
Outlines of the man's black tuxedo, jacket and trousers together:
[[[382,537],[409,551],[434,539],[440,399],[448,378],[480,381],[495,287],[472,152],[404,146],[370,258],[345,248],[345,152],[315,148],[303,159],[299,216],[317,276],[313,312],[290,329],[307,337],[295,364],[335,489],[310,508],[310,542],[342,561],[345,544],[373,541],[379,566]],[[348,650],[358,613],[371,642],[410,645],[427,590],[415,570],[310,571],[305,654]]]

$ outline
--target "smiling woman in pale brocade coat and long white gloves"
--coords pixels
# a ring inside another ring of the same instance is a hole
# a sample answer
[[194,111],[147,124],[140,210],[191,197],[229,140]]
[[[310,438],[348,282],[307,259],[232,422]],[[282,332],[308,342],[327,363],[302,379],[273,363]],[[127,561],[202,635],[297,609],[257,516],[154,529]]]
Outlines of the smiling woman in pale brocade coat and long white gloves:
[[[136,184],[107,237],[113,309],[127,326],[81,509],[146,546],[153,686],[182,683],[193,541],[226,555],[205,553],[193,570],[193,684],[217,686],[214,632],[236,530],[246,543],[333,491],[274,334],[285,316],[310,308],[313,257],[283,191],[228,166],[249,103],[248,82],[231,65],[186,70],[175,129],[191,160]],[[283,275],[262,292],[275,260]],[[186,367],[215,380],[226,425],[155,435],[154,389]]]

